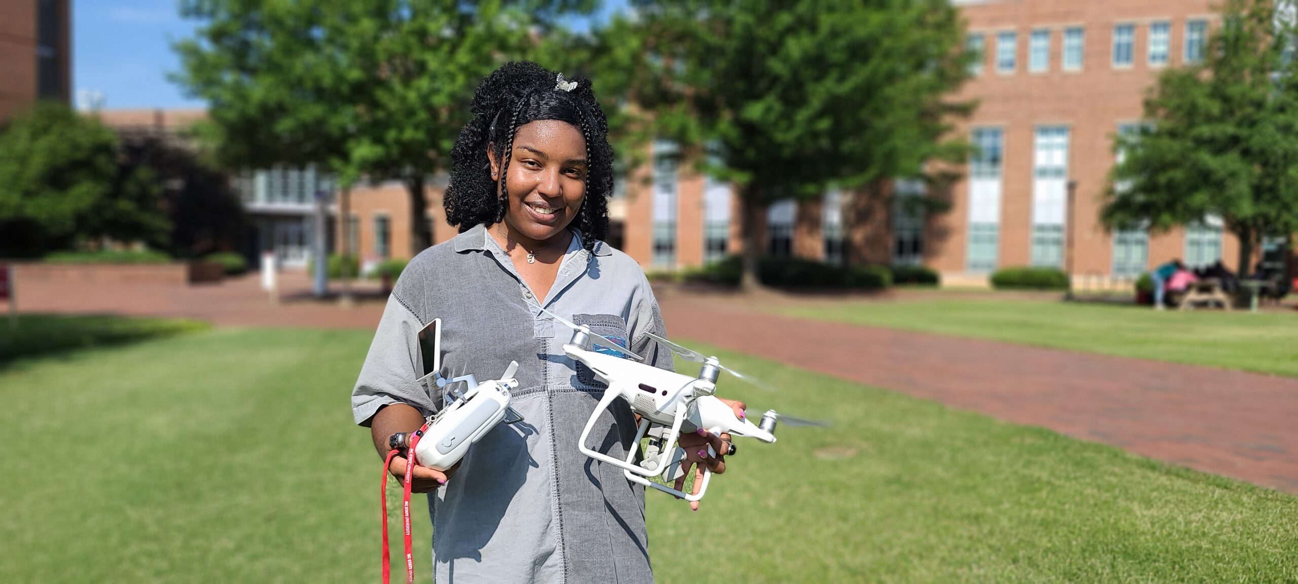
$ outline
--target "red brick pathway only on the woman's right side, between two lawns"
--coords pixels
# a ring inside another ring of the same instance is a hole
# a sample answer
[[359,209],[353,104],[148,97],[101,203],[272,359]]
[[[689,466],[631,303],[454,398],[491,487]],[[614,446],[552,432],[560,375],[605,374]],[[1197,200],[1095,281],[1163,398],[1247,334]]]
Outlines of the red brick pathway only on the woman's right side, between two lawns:
[[1298,379],[659,300],[676,337],[1298,492]]

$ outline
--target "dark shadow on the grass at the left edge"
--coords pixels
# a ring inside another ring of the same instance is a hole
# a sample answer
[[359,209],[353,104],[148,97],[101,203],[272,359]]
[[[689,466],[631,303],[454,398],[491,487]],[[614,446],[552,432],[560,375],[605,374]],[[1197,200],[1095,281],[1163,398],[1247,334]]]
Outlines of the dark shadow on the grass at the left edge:
[[118,345],[208,327],[210,324],[205,322],[174,318],[19,314],[17,326],[0,319],[0,371],[19,358]]

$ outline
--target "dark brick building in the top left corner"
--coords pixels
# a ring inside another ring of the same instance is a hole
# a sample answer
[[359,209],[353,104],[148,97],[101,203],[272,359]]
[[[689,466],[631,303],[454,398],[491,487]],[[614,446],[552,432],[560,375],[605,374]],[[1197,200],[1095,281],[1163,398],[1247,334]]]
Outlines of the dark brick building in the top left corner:
[[0,3],[0,122],[38,99],[71,100],[69,0]]

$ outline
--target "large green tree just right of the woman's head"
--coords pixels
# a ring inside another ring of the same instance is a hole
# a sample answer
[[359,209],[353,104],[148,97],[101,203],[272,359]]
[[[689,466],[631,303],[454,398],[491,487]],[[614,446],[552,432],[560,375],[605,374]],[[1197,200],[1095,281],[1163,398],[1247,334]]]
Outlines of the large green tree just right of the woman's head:
[[894,176],[937,178],[961,161],[948,140],[970,103],[959,14],[948,0],[681,0],[632,3],[645,58],[632,101],[655,134],[739,186],[744,286],[755,287],[757,226],[784,197]]

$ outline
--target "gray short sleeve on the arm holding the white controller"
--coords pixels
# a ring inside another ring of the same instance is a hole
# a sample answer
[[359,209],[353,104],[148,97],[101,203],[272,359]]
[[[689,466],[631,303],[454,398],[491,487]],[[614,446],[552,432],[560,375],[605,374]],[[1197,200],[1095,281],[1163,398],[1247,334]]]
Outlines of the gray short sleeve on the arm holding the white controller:
[[436,410],[434,392],[419,382],[419,328],[422,323],[400,297],[389,296],[361,376],[352,388],[352,415],[357,424],[370,426],[374,414],[391,404],[408,404],[424,415]]

